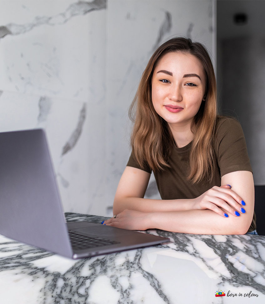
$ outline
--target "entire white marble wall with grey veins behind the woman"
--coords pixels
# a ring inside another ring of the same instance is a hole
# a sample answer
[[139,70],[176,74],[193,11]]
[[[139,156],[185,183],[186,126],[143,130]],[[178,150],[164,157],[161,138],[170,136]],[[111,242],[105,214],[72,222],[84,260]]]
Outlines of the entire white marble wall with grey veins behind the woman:
[[141,73],[175,35],[214,52],[213,5],[0,0],[0,131],[46,130],[65,211],[112,214]]

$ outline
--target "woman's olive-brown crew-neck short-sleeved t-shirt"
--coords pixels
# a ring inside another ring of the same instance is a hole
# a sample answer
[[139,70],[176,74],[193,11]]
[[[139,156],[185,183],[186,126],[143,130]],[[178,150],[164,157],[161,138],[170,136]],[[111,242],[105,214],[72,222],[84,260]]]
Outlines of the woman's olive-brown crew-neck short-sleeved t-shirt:
[[[247,146],[242,128],[238,121],[228,117],[217,119],[214,136],[214,174],[210,183],[191,183],[186,176],[189,166],[191,142],[182,148],[173,147],[169,156],[170,167],[154,172],[158,190],[162,199],[196,198],[213,186],[221,186],[221,177],[235,171],[250,171]],[[151,173],[146,165],[140,167],[131,154],[127,166]],[[253,215],[248,231],[256,229],[256,216]]]

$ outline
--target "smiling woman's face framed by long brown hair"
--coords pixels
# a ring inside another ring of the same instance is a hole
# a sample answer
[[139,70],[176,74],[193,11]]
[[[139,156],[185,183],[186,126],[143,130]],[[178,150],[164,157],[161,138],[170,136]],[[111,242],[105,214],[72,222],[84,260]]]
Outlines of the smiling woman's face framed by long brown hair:
[[154,109],[172,127],[190,126],[201,106],[205,85],[199,59],[188,53],[167,53],[153,73]]

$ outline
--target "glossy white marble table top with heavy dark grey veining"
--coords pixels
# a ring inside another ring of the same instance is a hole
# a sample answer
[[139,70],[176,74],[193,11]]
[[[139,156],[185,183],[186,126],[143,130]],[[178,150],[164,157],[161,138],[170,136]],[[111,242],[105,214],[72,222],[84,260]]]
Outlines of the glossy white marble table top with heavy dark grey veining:
[[0,236],[0,303],[265,303],[265,236],[147,233],[171,242],[71,260]]

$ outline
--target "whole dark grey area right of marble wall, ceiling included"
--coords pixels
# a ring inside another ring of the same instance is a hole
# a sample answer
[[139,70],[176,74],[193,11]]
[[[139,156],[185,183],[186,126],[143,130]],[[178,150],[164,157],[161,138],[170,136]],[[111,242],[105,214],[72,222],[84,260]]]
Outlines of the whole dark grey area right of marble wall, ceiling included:
[[[265,24],[259,18],[264,4],[217,1],[219,107],[242,125],[255,184],[265,184]],[[233,23],[237,12],[247,14],[247,24]]]

